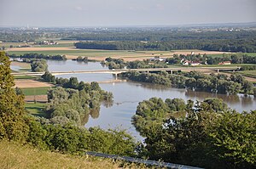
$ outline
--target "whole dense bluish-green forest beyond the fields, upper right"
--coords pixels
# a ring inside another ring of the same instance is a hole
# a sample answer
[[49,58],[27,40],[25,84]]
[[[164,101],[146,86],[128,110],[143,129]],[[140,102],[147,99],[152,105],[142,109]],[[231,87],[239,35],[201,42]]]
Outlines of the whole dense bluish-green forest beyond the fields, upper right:
[[[256,52],[254,31],[161,31],[84,34],[73,37],[76,48],[108,50],[201,49],[222,52]],[[95,42],[91,42],[95,41]]]

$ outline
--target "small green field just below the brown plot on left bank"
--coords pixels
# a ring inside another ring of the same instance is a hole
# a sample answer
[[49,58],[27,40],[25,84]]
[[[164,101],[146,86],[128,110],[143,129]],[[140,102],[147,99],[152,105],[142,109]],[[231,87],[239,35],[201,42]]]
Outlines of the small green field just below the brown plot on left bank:
[[47,117],[47,115],[43,111],[44,106],[45,104],[42,103],[26,103],[25,109],[28,110],[28,112],[32,115]]

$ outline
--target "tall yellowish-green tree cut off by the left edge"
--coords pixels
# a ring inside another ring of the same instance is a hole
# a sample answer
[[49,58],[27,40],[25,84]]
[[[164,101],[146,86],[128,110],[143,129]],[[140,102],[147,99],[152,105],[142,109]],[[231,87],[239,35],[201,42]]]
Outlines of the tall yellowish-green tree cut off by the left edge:
[[0,138],[25,141],[28,127],[24,120],[24,96],[15,93],[10,61],[0,52]]

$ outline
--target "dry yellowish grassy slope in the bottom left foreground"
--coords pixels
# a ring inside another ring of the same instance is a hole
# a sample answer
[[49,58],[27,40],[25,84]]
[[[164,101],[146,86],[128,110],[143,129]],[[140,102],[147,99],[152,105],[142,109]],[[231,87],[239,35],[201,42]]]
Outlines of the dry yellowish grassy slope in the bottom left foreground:
[[62,155],[29,146],[0,142],[0,168],[118,168],[119,163],[100,158]]

